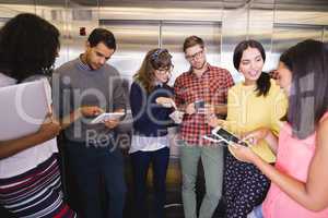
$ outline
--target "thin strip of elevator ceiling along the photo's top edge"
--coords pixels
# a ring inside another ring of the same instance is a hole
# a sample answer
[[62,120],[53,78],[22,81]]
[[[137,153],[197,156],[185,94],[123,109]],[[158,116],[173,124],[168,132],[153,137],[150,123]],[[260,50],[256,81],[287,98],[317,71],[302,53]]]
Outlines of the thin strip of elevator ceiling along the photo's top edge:
[[[68,0],[84,7],[172,7],[172,8],[226,8],[250,5],[256,9],[328,11],[328,0]],[[276,4],[274,4],[276,3]],[[62,5],[62,0],[0,0],[0,4]]]

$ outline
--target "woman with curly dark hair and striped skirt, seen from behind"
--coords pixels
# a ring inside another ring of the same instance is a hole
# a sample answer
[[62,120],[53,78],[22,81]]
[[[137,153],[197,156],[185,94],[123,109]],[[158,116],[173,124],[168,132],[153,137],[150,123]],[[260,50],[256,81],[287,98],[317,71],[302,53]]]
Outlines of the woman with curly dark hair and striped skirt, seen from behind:
[[[45,80],[58,51],[54,25],[28,13],[11,19],[0,29],[0,87]],[[60,125],[51,116],[46,120],[35,133],[0,142],[0,205],[13,217],[77,216],[63,202],[56,142]]]

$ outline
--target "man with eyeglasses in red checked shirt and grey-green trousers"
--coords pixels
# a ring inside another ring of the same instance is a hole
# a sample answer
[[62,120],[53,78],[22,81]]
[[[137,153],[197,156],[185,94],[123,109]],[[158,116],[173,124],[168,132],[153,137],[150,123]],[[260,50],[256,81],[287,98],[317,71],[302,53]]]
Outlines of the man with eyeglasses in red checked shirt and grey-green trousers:
[[185,39],[184,52],[190,70],[179,75],[174,84],[176,105],[185,111],[179,142],[184,211],[186,218],[197,218],[195,186],[201,159],[206,195],[199,218],[210,218],[222,193],[223,147],[202,137],[211,132],[206,113],[212,108],[216,114],[226,114],[227,89],[234,82],[227,70],[207,62],[204,43],[198,36]]

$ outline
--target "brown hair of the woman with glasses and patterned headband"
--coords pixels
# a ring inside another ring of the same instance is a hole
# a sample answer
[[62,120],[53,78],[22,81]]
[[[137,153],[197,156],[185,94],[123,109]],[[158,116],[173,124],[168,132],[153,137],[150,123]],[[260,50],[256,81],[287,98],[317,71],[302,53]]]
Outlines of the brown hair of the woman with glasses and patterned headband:
[[147,93],[151,93],[154,88],[154,72],[160,69],[172,68],[172,56],[166,49],[150,50],[138,70],[133,78],[143,86]]

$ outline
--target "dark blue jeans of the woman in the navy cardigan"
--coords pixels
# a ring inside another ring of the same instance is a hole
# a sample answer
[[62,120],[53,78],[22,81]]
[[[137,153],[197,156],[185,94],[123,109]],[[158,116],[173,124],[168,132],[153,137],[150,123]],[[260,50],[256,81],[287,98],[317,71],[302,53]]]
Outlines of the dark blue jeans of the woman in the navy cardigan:
[[131,154],[136,215],[139,218],[148,217],[147,209],[147,174],[150,164],[153,166],[153,186],[155,195],[155,217],[164,218],[166,198],[166,171],[169,158],[168,147],[154,152],[137,152]]

